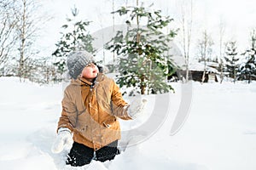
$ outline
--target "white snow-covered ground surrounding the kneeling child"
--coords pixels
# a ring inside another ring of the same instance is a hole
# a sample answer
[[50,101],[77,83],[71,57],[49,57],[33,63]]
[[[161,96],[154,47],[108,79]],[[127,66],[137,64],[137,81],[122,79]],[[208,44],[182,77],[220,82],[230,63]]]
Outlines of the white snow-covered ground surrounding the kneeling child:
[[[50,151],[61,114],[63,87],[0,77],[1,169],[55,170],[64,166],[67,151],[57,155]],[[256,82],[193,82],[189,117],[180,131],[170,135],[183,89],[180,83],[173,83],[173,87],[176,94],[169,94],[170,101],[155,105],[156,98],[165,99],[163,94],[149,95],[144,117],[121,122],[125,130],[136,129],[153,111],[166,108],[165,122],[150,138],[128,147],[113,161],[92,161],[88,169],[256,169]]]

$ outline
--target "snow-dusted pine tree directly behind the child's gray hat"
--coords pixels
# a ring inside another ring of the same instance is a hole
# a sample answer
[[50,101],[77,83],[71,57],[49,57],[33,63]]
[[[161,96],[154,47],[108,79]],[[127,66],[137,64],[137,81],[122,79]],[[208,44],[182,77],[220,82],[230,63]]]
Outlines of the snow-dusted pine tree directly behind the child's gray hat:
[[[95,53],[96,49],[92,47],[93,37],[90,35],[86,27],[90,25],[90,21],[77,20],[79,9],[74,7],[71,9],[73,19],[67,18],[67,24],[61,26],[65,31],[61,32],[61,40],[57,42],[55,52],[54,65],[57,66],[57,71],[62,74],[66,71],[67,55],[74,50],[86,50],[90,53]],[[56,77],[61,81],[61,77]]]

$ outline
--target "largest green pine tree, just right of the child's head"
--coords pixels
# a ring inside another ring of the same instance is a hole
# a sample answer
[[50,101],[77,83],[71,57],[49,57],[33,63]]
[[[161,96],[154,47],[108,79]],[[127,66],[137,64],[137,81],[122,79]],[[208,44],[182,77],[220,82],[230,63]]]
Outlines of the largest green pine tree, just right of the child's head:
[[[175,70],[167,54],[169,47],[166,42],[175,37],[176,31],[170,31],[168,35],[162,32],[172,19],[163,17],[160,10],[149,12],[143,7],[122,7],[113,13],[129,16],[125,21],[128,31],[118,31],[106,45],[119,56],[117,83],[120,88],[132,87],[134,90],[130,95],[173,90],[165,81]],[[146,26],[141,26],[143,21]]]

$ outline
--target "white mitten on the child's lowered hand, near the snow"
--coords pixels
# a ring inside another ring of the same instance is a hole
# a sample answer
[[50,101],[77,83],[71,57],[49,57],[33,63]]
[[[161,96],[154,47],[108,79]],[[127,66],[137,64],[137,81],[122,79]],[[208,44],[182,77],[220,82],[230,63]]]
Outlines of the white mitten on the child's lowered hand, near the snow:
[[70,147],[73,144],[71,131],[67,127],[61,127],[58,130],[57,138],[51,147],[53,153],[60,153],[65,146]]

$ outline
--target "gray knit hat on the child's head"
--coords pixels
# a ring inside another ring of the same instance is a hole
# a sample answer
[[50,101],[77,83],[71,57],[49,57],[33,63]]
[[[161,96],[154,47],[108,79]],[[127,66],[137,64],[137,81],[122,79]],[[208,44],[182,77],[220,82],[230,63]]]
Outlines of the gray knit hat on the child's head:
[[87,51],[73,51],[67,55],[67,70],[70,77],[77,79],[85,65],[95,62],[93,55]]

